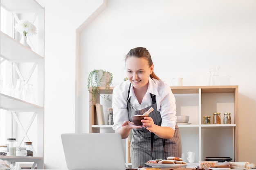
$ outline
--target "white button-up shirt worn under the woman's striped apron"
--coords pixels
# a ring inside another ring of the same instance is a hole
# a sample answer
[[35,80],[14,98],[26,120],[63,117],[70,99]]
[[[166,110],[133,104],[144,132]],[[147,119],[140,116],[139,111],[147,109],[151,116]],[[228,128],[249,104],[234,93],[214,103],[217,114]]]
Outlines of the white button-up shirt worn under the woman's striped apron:
[[[130,82],[127,80],[122,82],[118,86],[115,86],[112,93],[112,108],[114,114],[113,129],[119,128],[125,120],[128,118],[127,110],[127,96]],[[162,118],[161,126],[170,127],[175,130],[176,124],[176,104],[175,97],[171,91],[170,86],[164,83],[162,80],[151,79],[148,81],[148,91],[139,104],[131,85],[130,88],[130,103],[135,110],[141,110],[143,108],[152,105],[152,99],[150,93],[156,95],[157,111],[160,112]]]

